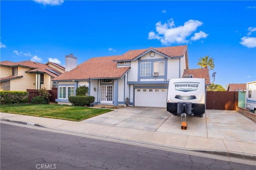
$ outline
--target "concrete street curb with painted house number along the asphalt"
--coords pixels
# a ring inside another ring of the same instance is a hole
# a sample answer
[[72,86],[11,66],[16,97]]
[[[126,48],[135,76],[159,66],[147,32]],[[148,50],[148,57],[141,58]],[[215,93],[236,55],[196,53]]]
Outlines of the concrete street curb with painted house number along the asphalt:
[[119,140],[119,141],[124,141],[124,142],[131,142],[131,143],[138,143],[138,144],[146,144],[150,146],[158,146],[162,148],[171,148],[171,149],[176,149],[176,150],[185,150],[185,151],[195,151],[195,152],[201,152],[201,153],[207,153],[207,154],[213,154],[213,155],[221,155],[221,156],[228,156],[228,157],[235,157],[235,158],[244,158],[248,160],[255,160],[256,161],[256,155],[253,154],[243,154],[243,153],[235,153],[235,152],[226,152],[226,151],[213,151],[213,150],[195,150],[195,149],[189,149],[189,148],[180,148],[180,147],[175,147],[175,146],[169,146],[169,145],[161,145],[161,144],[155,144],[155,143],[149,143],[149,142],[142,142],[142,141],[136,141],[136,140],[128,140],[128,139],[123,139],[123,138],[116,138],[116,137],[110,137],[110,136],[105,136],[105,135],[99,135],[99,134],[91,134],[91,133],[85,133],[85,132],[77,132],[77,131],[72,131],[72,130],[63,130],[60,128],[52,128],[48,127],[46,125],[40,125],[37,123],[29,123],[29,122],[23,122],[23,121],[15,121],[15,120],[10,120],[10,119],[4,119],[0,118],[1,121],[6,121],[6,122],[11,122],[11,123],[18,123],[18,124],[23,124],[27,125],[28,127],[43,127],[43,128],[49,128],[52,130],[60,130],[63,132],[71,132],[75,134],[84,134],[87,136],[94,136],[94,137],[100,137],[100,138],[106,138],[106,139],[113,139],[113,140]]

